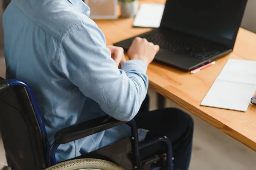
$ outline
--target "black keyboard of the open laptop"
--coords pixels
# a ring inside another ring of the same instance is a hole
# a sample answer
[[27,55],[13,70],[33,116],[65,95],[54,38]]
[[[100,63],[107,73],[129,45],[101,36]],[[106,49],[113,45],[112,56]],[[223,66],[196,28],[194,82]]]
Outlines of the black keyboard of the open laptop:
[[205,42],[198,39],[184,37],[181,34],[164,34],[158,29],[151,31],[149,34],[143,35],[142,38],[146,38],[149,42],[153,42],[161,48],[200,60],[206,60],[210,57],[221,54],[221,51],[210,48],[209,44],[206,45]]

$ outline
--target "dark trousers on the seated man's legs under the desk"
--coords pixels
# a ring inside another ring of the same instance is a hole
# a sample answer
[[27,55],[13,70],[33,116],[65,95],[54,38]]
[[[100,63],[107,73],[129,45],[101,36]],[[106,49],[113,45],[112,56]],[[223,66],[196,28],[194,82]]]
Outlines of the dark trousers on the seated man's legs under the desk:
[[[167,136],[172,141],[175,170],[188,170],[192,151],[194,123],[188,114],[175,108],[148,111],[147,96],[140,112],[135,116],[138,128],[149,130],[146,139]],[[140,150],[141,159],[154,153],[165,153],[166,145],[156,143]]]

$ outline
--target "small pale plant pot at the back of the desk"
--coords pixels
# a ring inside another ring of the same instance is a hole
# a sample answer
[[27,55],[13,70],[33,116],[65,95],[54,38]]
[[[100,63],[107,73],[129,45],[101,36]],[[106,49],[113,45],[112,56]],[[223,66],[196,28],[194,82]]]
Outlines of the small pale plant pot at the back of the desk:
[[120,2],[121,6],[121,17],[128,18],[134,17],[138,11],[138,0],[131,2]]

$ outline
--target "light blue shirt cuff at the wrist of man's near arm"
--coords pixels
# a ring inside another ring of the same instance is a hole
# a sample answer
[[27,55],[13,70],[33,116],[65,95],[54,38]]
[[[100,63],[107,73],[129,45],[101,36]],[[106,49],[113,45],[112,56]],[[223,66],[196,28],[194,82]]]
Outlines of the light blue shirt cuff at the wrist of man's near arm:
[[136,69],[142,73],[147,72],[148,65],[144,60],[141,59],[131,59],[127,62],[122,63],[121,68],[123,71],[127,72]]

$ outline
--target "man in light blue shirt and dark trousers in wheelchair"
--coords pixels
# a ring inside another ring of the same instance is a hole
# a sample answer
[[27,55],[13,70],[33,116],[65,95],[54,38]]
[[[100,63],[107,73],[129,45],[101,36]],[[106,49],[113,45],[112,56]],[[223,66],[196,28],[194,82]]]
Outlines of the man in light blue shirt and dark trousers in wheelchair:
[[[136,38],[128,51],[130,60],[125,61],[122,48],[106,47],[104,34],[89,14],[81,0],[12,0],[3,15],[6,78],[23,79],[31,85],[50,144],[58,130],[99,116],[130,121],[147,93],[147,66],[159,46]],[[177,109],[145,110],[147,107],[135,117],[140,140],[166,135],[173,142],[175,169],[187,170],[191,117]],[[129,135],[130,128],[121,125],[61,145],[57,160]],[[155,144],[141,150],[141,156],[165,150]]]

